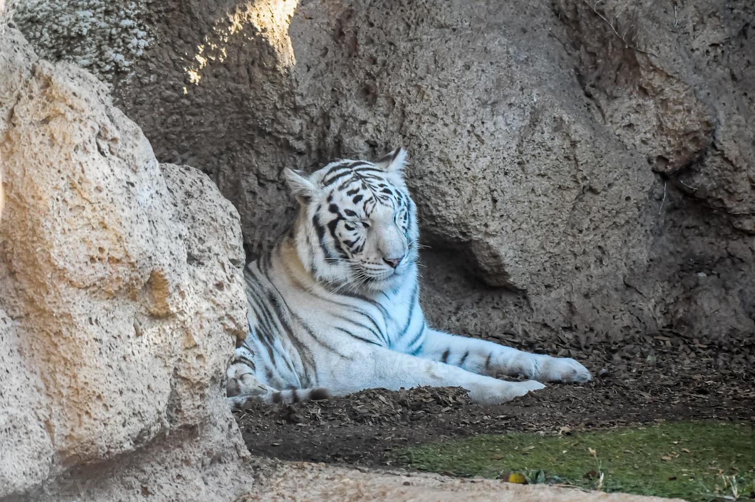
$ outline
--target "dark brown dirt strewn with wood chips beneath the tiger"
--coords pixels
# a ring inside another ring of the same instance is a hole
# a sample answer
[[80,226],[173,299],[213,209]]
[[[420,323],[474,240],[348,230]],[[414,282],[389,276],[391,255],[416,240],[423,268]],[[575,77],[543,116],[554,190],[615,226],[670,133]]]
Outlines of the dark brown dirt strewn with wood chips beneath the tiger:
[[550,384],[508,404],[471,404],[458,388],[370,389],[330,401],[235,411],[253,454],[386,466],[396,448],[478,433],[569,432],[653,420],[755,420],[755,344],[708,346],[678,336],[648,337],[643,352],[593,346],[570,355],[596,378]]

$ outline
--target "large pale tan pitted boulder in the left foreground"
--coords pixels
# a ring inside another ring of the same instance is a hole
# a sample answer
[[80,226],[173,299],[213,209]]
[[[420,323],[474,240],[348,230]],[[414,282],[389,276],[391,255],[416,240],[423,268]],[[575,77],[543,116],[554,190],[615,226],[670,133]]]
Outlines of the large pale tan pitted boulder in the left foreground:
[[239,215],[97,78],[0,33],[0,499],[230,500]]

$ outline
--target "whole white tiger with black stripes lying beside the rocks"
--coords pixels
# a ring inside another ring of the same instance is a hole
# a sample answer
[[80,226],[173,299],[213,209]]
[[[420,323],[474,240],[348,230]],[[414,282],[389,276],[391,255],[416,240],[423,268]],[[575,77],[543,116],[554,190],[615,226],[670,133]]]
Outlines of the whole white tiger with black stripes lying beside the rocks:
[[[245,268],[249,333],[227,372],[233,402],[461,386],[473,401],[493,404],[542,389],[539,382],[591,379],[574,359],[427,326],[405,157],[398,148],[377,163],[337,160],[309,176],[286,169],[297,218]],[[495,378],[520,374],[533,380]]]

